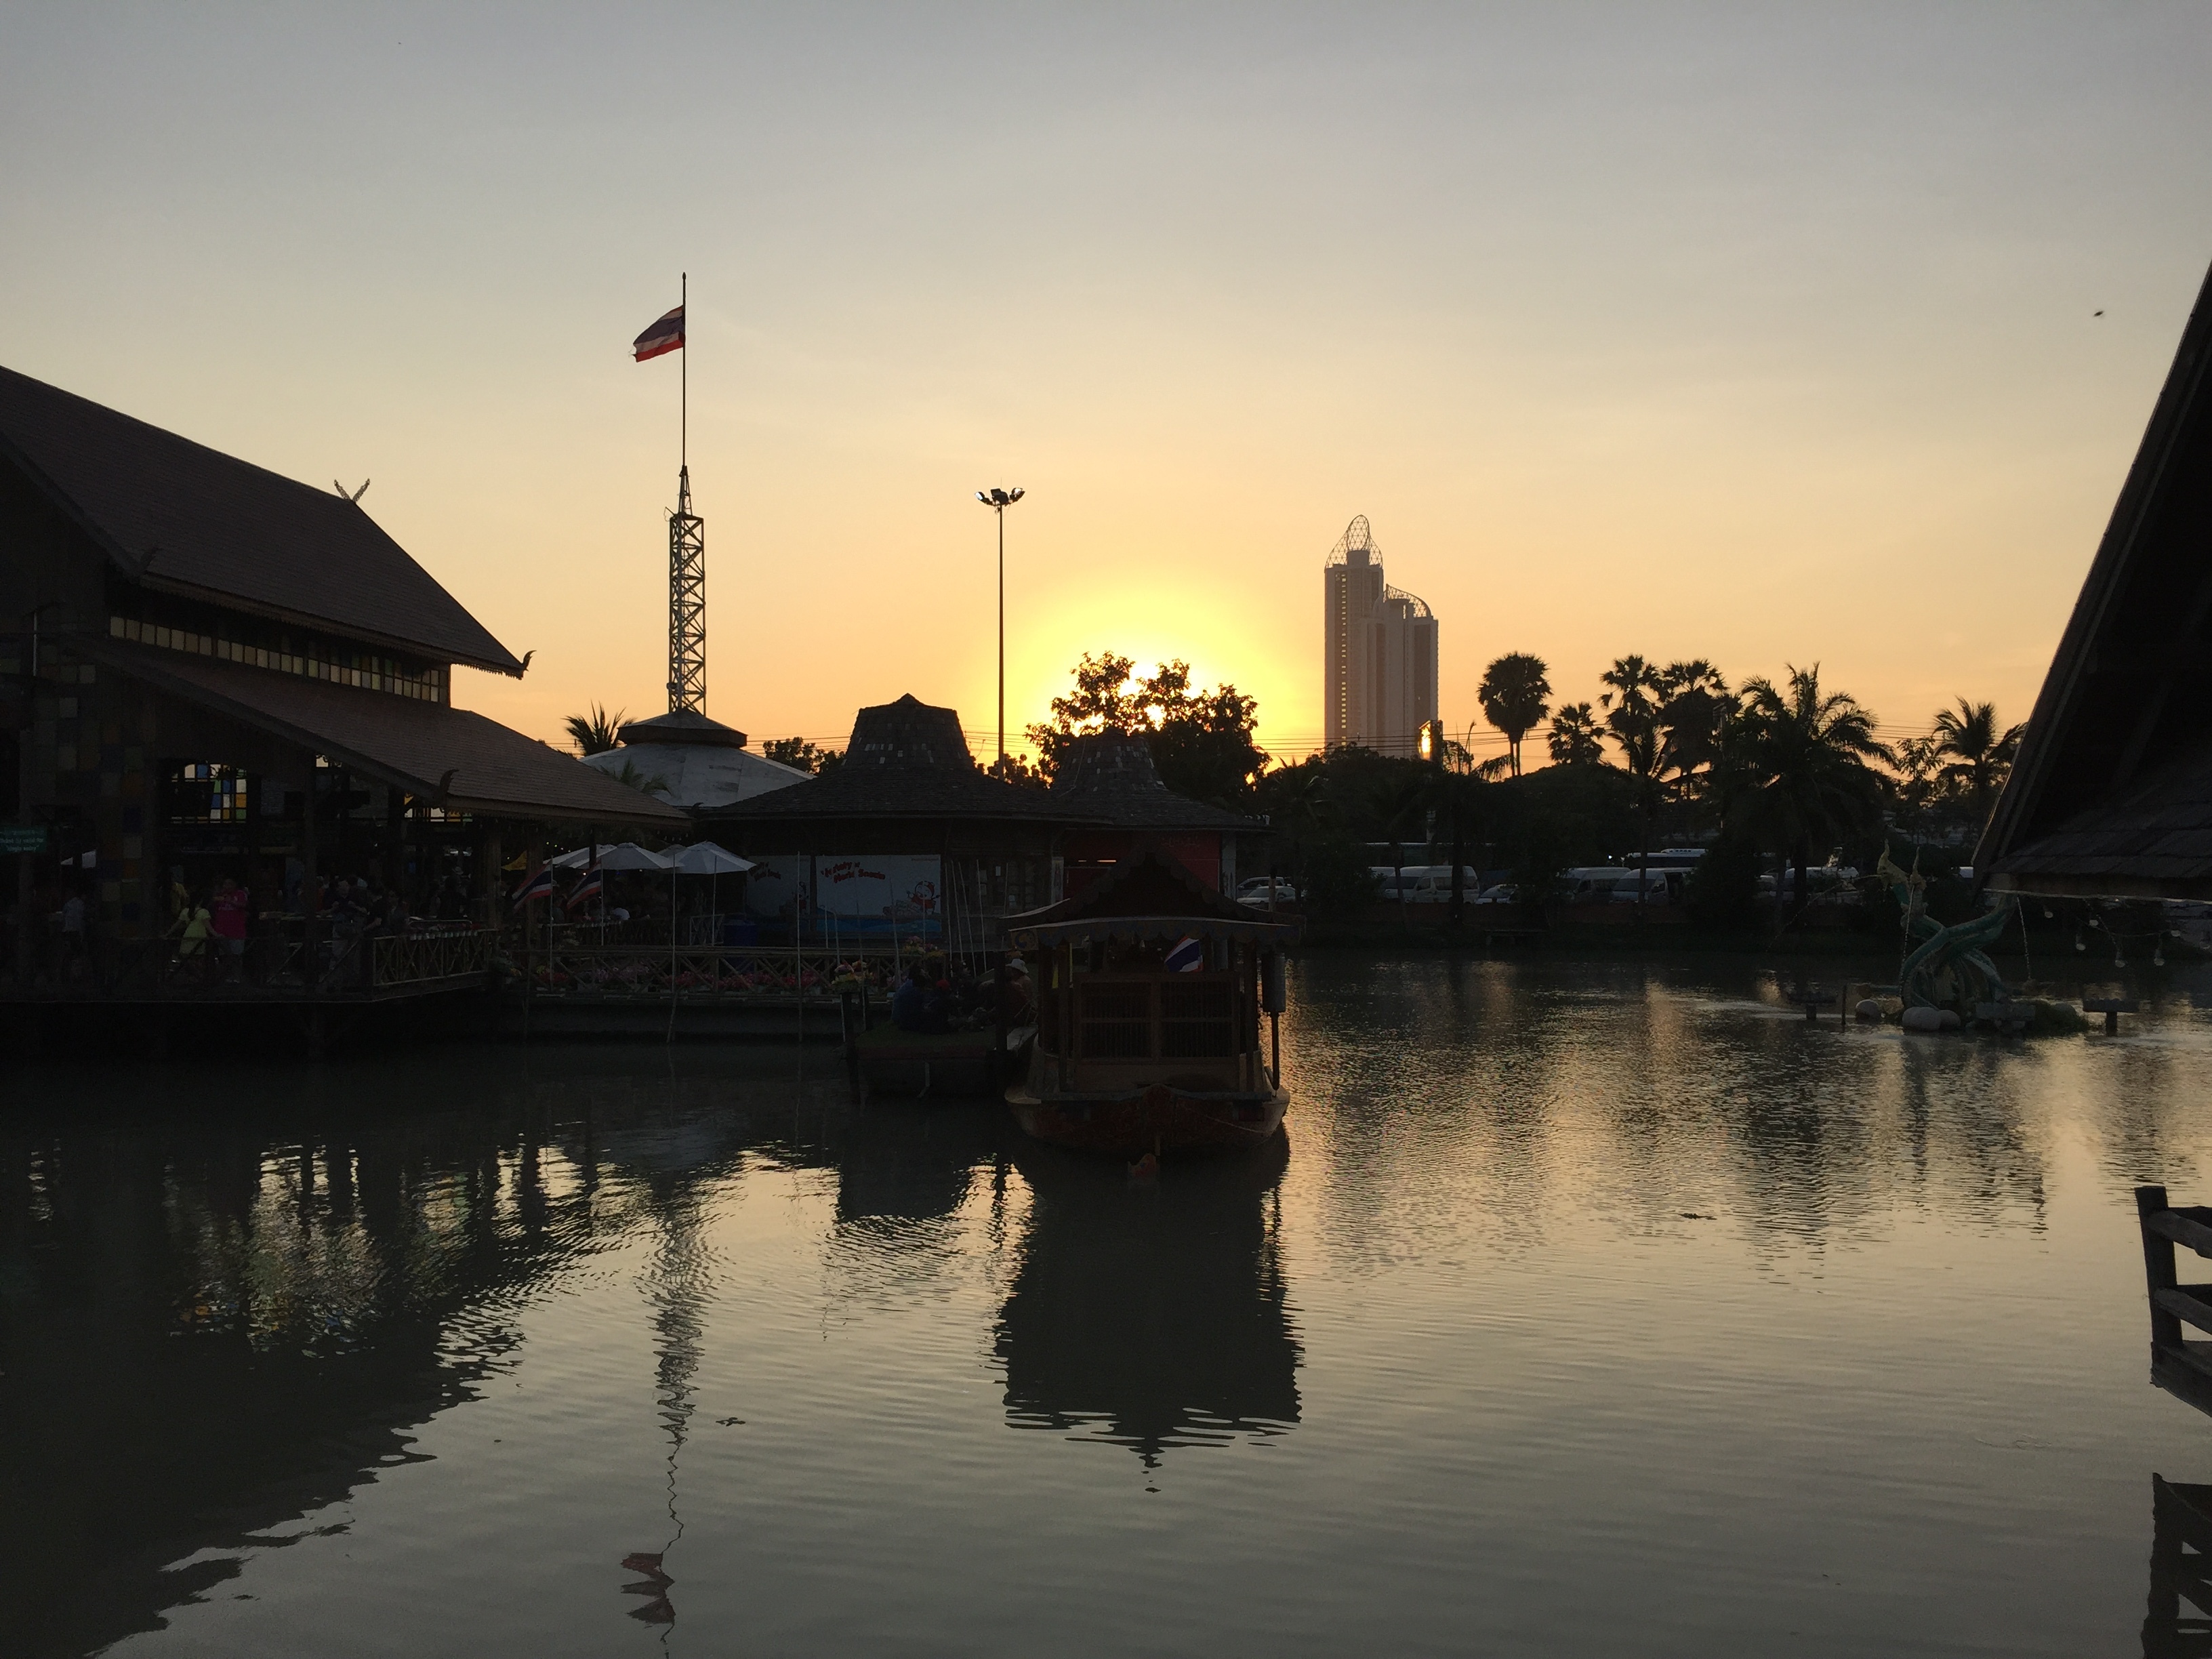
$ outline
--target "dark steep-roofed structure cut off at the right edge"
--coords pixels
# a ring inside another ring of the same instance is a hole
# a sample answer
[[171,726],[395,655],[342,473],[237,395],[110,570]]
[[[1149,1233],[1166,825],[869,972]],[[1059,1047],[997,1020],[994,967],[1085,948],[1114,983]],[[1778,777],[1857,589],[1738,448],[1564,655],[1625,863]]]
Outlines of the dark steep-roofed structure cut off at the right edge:
[[1993,891],[2212,900],[2212,276],[1997,799]]

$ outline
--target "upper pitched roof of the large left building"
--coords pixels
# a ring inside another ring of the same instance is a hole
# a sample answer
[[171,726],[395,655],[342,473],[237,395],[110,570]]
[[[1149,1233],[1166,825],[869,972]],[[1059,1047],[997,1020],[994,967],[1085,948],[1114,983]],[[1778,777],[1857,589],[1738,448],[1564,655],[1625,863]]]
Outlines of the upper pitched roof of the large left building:
[[465,661],[522,664],[361,507],[0,369],[0,458],[150,588]]

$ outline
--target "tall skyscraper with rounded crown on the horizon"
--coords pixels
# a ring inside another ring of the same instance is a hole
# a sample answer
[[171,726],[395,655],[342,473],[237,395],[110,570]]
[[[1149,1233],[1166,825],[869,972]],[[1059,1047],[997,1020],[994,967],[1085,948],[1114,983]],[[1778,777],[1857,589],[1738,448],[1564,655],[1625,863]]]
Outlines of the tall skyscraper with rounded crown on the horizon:
[[1323,741],[1413,754],[1436,719],[1436,615],[1383,580],[1383,549],[1356,518],[1321,566]]

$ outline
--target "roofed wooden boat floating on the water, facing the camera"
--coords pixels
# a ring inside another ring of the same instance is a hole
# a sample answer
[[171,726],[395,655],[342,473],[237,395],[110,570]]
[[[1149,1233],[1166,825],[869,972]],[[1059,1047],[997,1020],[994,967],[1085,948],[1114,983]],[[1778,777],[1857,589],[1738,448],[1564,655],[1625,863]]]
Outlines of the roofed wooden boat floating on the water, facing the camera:
[[1006,1088],[1024,1133],[1137,1159],[1256,1148],[1283,1128],[1279,1018],[1294,922],[1263,920],[1139,849],[1006,929],[1037,998],[1029,1064]]

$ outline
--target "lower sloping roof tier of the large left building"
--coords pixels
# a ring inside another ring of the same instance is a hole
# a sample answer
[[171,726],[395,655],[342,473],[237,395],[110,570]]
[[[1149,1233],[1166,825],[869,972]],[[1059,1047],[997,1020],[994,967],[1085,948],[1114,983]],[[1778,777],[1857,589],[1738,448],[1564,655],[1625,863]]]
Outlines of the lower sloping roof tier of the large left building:
[[332,686],[301,675],[153,650],[117,639],[73,641],[113,670],[288,743],[327,754],[458,812],[599,825],[679,827],[690,821],[573,754],[445,703]]

